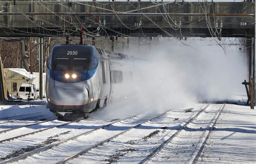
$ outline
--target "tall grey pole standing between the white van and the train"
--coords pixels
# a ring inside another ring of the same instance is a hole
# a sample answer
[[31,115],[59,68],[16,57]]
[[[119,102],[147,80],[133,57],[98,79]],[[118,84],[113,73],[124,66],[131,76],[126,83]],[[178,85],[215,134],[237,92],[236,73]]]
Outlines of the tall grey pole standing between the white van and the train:
[[39,39],[39,99],[43,99],[43,38]]

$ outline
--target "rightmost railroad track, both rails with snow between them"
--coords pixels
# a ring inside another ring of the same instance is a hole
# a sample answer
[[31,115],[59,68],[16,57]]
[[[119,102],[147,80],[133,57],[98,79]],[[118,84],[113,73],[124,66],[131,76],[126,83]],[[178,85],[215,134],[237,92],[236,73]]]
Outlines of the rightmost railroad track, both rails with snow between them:
[[[227,100],[228,101],[228,100]],[[211,117],[211,120],[206,120],[206,122],[209,122],[209,123],[206,123],[204,126],[204,128],[207,128],[208,132],[206,133],[205,132],[205,129],[202,129],[201,130],[201,134],[200,136],[203,136],[202,138],[198,138],[197,141],[199,141],[196,145],[196,141],[194,141],[194,143],[190,146],[190,147],[194,147],[194,148],[188,148],[188,149],[184,149],[185,145],[183,144],[182,145],[182,149],[186,152],[189,152],[189,151],[193,151],[193,155],[192,155],[192,158],[187,158],[187,159],[180,159],[178,158],[179,162],[181,163],[193,163],[195,164],[198,160],[198,157],[200,156],[213,128],[214,128],[214,125],[217,123],[218,119],[219,119],[219,116],[221,115],[227,101],[225,102],[224,105],[220,106],[220,108],[218,109],[217,112],[213,112],[213,114],[215,114],[214,116]],[[197,115],[195,115],[194,117],[192,117],[187,123],[185,123],[184,125],[182,125],[174,134],[172,134],[166,141],[164,141],[162,144],[160,144],[154,151],[152,151],[150,154],[147,155],[146,158],[144,158],[143,160],[141,160],[139,162],[139,164],[144,164],[144,163],[155,163],[156,161],[160,162],[161,159],[159,160],[159,158],[163,158],[163,155],[159,155],[159,154],[165,154],[166,153],[166,150],[168,150],[169,152],[170,151],[173,151],[174,153],[172,153],[172,155],[170,153],[168,153],[167,157],[168,156],[172,156],[172,159],[175,159],[175,155],[178,155],[179,153],[175,153],[175,150],[174,149],[177,149],[177,148],[170,148],[170,146],[173,146],[173,144],[177,144],[177,141],[178,139],[176,139],[176,141],[173,141],[173,143],[170,144],[170,142],[172,140],[174,140],[174,138],[179,138],[180,136],[189,136],[191,134],[189,130],[184,130],[186,128],[191,128],[189,126],[193,126],[193,124],[195,124],[195,120],[196,119],[199,119],[199,117],[201,116],[205,116],[206,114],[211,113],[211,111],[207,111],[207,108],[211,105],[208,104],[205,108],[203,108],[201,111],[198,112]],[[202,119],[202,118],[200,118]],[[200,120],[199,119],[199,120]],[[209,118],[207,118],[209,119]],[[203,122],[203,119],[201,120],[201,122]],[[191,125],[192,124],[192,125]],[[202,124],[200,126],[203,126]],[[208,127],[207,127],[208,126]],[[202,128],[202,127],[200,127]],[[206,130],[206,131],[207,131]],[[185,131],[185,132],[184,132]],[[191,131],[193,131],[193,129],[191,128]],[[198,130],[199,131],[199,130]],[[184,142],[184,141],[183,141]],[[168,145],[170,144],[170,145]],[[169,148],[168,148],[169,147]],[[177,146],[178,147],[178,146]],[[165,150],[163,150],[165,149]],[[177,151],[176,151],[177,152]],[[179,152],[182,152],[182,151],[179,151]],[[183,155],[184,156],[184,155]],[[154,159],[155,158],[155,159]],[[172,162],[178,162],[178,161],[175,161],[175,160],[172,160]]]

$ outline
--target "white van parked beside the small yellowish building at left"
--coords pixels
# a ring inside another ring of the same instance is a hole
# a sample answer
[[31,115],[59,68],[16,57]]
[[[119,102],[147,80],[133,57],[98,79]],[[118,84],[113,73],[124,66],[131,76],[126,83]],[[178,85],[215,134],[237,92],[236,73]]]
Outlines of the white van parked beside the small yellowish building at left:
[[35,84],[20,84],[17,92],[17,100],[37,100],[39,89]]

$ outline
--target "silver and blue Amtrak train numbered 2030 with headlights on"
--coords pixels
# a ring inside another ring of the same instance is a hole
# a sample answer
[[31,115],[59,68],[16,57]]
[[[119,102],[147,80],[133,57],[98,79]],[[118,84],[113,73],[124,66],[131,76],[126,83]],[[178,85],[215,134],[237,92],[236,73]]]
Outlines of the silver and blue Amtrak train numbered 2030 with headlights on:
[[105,107],[133,77],[131,56],[92,45],[56,45],[47,59],[47,108],[58,117]]

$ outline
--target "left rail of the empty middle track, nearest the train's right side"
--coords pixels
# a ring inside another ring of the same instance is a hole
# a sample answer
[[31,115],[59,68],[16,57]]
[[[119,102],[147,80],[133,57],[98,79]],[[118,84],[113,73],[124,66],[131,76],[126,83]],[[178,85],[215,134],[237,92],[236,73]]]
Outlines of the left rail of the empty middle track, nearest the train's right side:
[[67,142],[67,141],[69,141],[69,140],[72,140],[72,139],[78,138],[78,137],[80,137],[80,136],[82,136],[82,135],[90,134],[90,133],[92,133],[92,132],[93,132],[93,131],[95,131],[95,130],[98,130],[98,129],[101,129],[101,128],[104,128],[104,127],[107,127],[107,126],[109,126],[109,125],[111,125],[111,124],[113,124],[113,123],[117,123],[117,122],[120,122],[120,121],[123,121],[123,120],[126,120],[126,119],[130,119],[130,118],[133,118],[133,117],[136,117],[136,116],[132,116],[132,117],[129,117],[129,118],[125,118],[125,119],[122,119],[122,120],[117,120],[117,121],[112,122],[112,123],[109,123],[109,124],[107,124],[107,125],[103,125],[103,126],[98,127],[98,128],[96,128],[96,129],[92,129],[92,130],[90,130],[90,131],[87,131],[87,132],[81,133],[81,134],[76,135],[76,136],[74,136],[74,137],[71,137],[71,138],[65,139],[65,140],[63,140],[63,141],[60,141],[60,142],[54,143],[54,144],[52,144],[52,145],[49,145],[49,146],[43,147],[43,148],[38,149],[38,150],[36,150],[36,151],[32,151],[32,152],[30,152],[30,153],[27,153],[27,154],[21,155],[21,156],[19,156],[19,157],[13,158],[13,159],[11,159],[11,160],[8,160],[8,161],[5,161],[5,162],[2,162],[2,163],[0,163],[0,164],[6,164],[6,163],[9,163],[9,162],[15,162],[15,161],[18,161],[18,160],[21,160],[21,159],[25,159],[25,158],[27,158],[28,156],[31,156],[31,155],[33,155],[33,154],[35,154],[35,153],[40,152],[40,151],[44,151],[44,150],[50,149],[50,148],[52,148],[53,146],[59,145],[59,144],[61,144],[61,143],[63,143],[63,142]]

